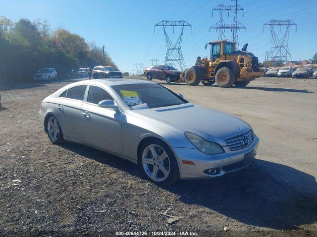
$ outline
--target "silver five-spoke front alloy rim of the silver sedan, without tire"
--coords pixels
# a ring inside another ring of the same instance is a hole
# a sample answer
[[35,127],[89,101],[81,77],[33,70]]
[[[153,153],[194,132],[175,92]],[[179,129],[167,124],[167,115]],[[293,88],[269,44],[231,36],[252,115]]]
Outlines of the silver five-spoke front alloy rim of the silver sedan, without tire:
[[171,165],[166,151],[159,145],[151,144],[143,151],[142,166],[153,181],[162,182],[167,179]]

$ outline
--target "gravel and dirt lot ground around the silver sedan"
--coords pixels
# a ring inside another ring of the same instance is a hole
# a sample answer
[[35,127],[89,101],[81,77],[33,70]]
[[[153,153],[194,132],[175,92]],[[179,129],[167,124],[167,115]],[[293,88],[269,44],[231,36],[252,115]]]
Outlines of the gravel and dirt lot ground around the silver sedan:
[[[231,234],[317,234],[317,79],[260,78],[245,88],[165,84],[193,103],[246,120],[261,139],[252,166],[168,188],[142,180],[128,161],[49,141],[38,119],[40,102],[70,82],[0,89],[5,107],[0,111],[0,236],[224,227]],[[183,218],[168,224],[159,213],[166,210]]]

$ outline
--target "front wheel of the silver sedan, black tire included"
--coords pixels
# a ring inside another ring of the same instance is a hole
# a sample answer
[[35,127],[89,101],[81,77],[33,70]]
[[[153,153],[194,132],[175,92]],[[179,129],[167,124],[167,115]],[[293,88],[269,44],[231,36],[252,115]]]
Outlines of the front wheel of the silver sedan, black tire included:
[[[153,149],[156,153],[154,156]],[[148,140],[142,145],[138,154],[138,166],[144,178],[158,185],[170,185],[179,179],[176,158],[170,148],[159,139]],[[154,177],[155,167],[157,172]],[[165,168],[165,173],[162,168]]]

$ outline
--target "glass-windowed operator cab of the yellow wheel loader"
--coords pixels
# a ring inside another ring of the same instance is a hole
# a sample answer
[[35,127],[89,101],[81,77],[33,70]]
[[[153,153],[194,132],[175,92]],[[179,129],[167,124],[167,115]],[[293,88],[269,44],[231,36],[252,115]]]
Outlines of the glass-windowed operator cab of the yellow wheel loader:
[[227,40],[211,41],[206,43],[205,49],[210,45],[210,61],[215,62],[219,60],[225,60],[223,57],[226,54],[230,54],[236,50],[236,43]]

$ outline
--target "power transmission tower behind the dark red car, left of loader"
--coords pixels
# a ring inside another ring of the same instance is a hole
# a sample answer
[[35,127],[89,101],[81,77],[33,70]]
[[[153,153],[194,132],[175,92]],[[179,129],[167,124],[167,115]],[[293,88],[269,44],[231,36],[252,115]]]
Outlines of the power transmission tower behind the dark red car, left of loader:
[[[189,26],[192,29],[192,25],[183,20],[181,21],[163,20],[154,26],[154,32],[157,27],[163,27],[165,41],[166,41],[166,56],[165,56],[164,64],[169,66],[174,66],[175,68],[178,68],[181,71],[184,71],[186,69],[183,53],[181,50],[184,27],[186,26]],[[166,32],[166,27],[173,27],[173,33],[174,33],[175,27],[180,28],[180,34],[175,43],[173,43],[170,40],[168,33]]]

